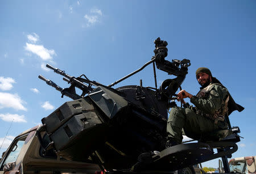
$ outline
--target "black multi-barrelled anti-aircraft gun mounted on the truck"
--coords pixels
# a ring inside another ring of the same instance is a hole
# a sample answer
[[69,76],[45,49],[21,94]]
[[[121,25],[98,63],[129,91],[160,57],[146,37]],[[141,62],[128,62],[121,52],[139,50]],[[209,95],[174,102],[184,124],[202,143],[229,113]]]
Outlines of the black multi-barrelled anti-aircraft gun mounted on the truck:
[[[46,65],[63,75],[71,86],[61,88],[42,75],[39,78],[73,101],[42,119],[43,126],[37,134],[44,156],[97,163],[102,171],[110,173],[170,173],[219,157],[223,160],[237,151],[240,130],[232,131],[231,126],[220,130],[217,139],[209,135],[197,143],[165,147],[167,111],[176,105],[175,92],[181,89],[191,63],[186,59],[165,60],[167,42],[158,37],[154,43],[155,56],[151,61],[109,86],[89,80],[84,74],[75,78]],[[141,82],[139,86],[113,88],[151,63],[155,87],[143,87]],[[176,78],[164,80],[158,88],[155,66]],[[76,93],[76,88],[82,91],[81,95]],[[43,131],[46,134],[42,137]],[[218,152],[214,153],[213,148]]]

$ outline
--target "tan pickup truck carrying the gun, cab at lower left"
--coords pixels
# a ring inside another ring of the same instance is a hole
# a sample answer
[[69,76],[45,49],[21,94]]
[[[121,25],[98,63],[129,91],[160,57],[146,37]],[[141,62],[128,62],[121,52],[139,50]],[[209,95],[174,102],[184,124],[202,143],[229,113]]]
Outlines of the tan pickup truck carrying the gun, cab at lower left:
[[[23,131],[11,143],[0,160],[0,173],[96,173],[97,164],[68,161],[55,154],[42,155],[36,130],[42,125]],[[42,137],[44,136],[42,133]],[[100,172],[101,173],[101,172]]]

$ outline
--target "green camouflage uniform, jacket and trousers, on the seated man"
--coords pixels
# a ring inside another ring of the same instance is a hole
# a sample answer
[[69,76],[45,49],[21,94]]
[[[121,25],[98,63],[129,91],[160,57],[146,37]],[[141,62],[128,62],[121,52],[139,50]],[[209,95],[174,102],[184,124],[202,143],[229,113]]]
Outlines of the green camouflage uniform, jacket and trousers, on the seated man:
[[168,138],[181,143],[182,129],[193,139],[217,129],[228,128],[224,117],[228,114],[228,90],[218,83],[210,83],[201,88],[196,96],[191,97],[195,107],[174,107],[171,109],[167,123]]

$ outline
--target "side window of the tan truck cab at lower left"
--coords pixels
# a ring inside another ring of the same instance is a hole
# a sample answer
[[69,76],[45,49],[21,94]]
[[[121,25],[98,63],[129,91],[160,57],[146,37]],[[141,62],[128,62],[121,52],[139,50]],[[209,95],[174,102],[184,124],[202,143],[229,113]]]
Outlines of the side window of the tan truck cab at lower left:
[[2,161],[2,163],[0,164],[1,169],[3,169],[3,166],[5,164],[8,163],[13,163],[16,162],[16,159],[18,158],[19,152],[22,148],[22,146],[24,145],[26,137],[22,137],[20,139],[18,139],[10,148],[9,154],[7,154],[5,160]]

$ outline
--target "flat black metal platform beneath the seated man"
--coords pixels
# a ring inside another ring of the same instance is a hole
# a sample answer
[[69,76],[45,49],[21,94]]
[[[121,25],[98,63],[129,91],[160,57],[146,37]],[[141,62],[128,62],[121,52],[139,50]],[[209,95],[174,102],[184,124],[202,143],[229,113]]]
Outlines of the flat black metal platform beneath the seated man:
[[[217,153],[214,154],[212,148],[217,148]],[[236,143],[232,142],[181,144],[166,148],[158,152],[158,154],[152,155],[151,158],[147,158],[148,154],[144,154],[143,158],[141,158],[144,160],[138,159],[138,163],[133,166],[133,169],[134,171],[175,171],[188,167],[189,165],[203,163],[216,158],[226,159],[226,155],[232,154],[236,150]],[[227,160],[224,162],[227,162]],[[224,165],[226,166],[225,171],[229,173],[228,163]]]

